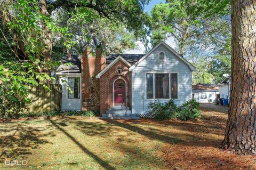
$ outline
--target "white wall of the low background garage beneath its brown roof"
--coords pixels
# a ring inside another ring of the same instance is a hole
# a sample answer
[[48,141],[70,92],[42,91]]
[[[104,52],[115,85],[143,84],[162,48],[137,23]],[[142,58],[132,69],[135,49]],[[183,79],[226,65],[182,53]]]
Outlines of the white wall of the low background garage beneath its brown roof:
[[[216,99],[216,94],[218,94],[218,91],[199,91],[199,90],[193,90],[195,94],[195,99],[199,103],[213,103]],[[201,99],[201,94],[206,93],[206,99]]]

